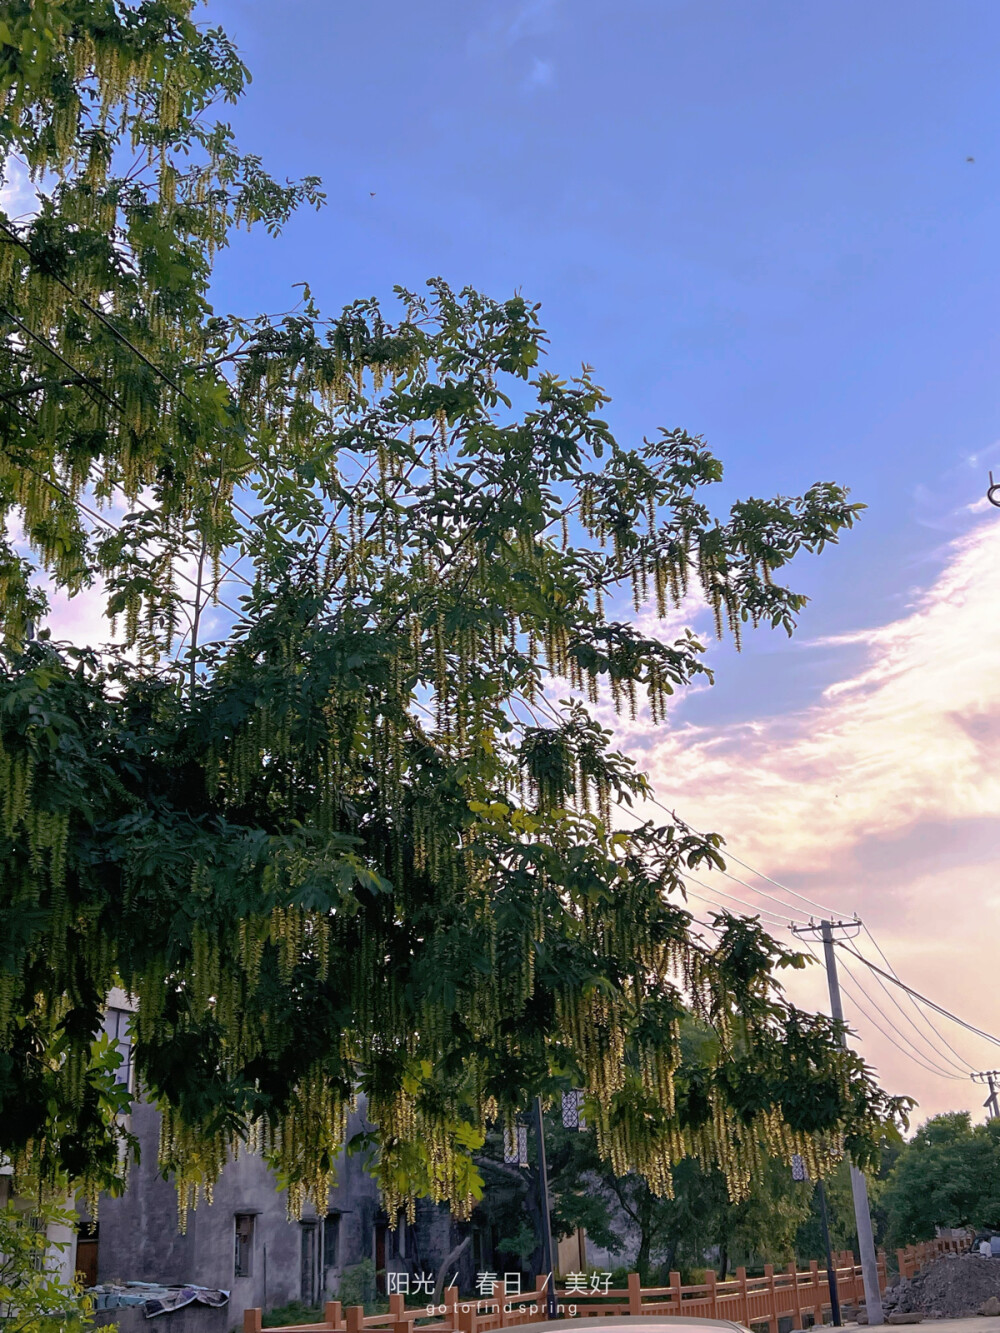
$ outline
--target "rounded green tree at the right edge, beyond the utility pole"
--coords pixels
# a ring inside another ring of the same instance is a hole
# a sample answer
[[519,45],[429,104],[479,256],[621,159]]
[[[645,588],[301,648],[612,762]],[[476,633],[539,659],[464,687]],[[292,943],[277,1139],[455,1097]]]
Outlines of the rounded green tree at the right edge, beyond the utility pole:
[[933,1116],[899,1154],[883,1194],[895,1245],[931,1240],[937,1226],[1000,1230],[1000,1122],[965,1110]]

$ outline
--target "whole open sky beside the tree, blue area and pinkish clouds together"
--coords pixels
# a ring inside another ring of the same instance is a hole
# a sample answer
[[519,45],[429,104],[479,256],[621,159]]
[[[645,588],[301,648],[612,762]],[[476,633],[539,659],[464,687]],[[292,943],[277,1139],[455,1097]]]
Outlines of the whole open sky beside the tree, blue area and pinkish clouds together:
[[[220,308],[285,309],[303,280],[327,311],[435,275],[520,291],[549,365],[595,367],[623,441],[704,435],[720,511],[817,480],[868,507],[795,568],[811,599],[795,639],[712,644],[717,684],[621,742],[660,800],[811,902],[735,862],[747,882],[716,878],[716,900],[860,913],[909,985],[1000,1033],[1000,511],[984,500],[1000,7],[209,0],[203,16],[253,72],[231,112],[243,147],[328,193],[279,241],[220,257]],[[945,1046],[873,976],[844,984],[859,1049],[917,1118],[981,1114],[943,1052],[987,1069],[995,1046],[935,1018]],[[789,989],[825,1004],[819,968]]]

